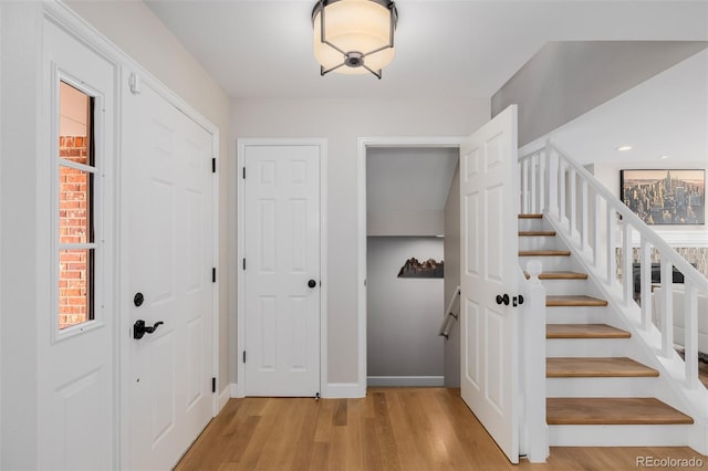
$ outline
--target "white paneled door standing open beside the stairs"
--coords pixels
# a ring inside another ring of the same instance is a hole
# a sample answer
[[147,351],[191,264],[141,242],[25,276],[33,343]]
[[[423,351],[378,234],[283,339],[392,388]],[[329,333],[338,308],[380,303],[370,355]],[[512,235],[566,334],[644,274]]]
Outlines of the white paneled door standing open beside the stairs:
[[[519,462],[517,388],[517,107],[461,147],[461,396],[512,463]],[[509,296],[508,305],[497,295]]]

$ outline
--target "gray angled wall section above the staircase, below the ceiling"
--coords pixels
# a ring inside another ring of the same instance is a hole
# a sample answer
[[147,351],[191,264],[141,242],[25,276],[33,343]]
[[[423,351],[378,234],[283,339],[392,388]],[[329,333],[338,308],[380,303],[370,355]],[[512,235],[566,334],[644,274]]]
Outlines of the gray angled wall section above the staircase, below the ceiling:
[[707,46],[705,41],[551,42],[492,96],[492,116],[519,105],[521,147]]

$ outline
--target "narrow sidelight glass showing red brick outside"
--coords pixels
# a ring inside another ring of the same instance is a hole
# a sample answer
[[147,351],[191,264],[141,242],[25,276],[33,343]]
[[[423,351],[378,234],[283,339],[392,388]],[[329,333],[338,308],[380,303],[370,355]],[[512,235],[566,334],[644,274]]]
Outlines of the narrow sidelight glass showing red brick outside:
[[94,98],[60,83],[59,328],[94,318]]

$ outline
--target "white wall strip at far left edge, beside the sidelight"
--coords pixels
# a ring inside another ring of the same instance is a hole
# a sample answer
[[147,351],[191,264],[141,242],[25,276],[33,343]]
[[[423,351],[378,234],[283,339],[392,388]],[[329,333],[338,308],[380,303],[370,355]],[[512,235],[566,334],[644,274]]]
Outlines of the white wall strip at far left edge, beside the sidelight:
[[0,2],[0,469],[37,469],[42,10]]

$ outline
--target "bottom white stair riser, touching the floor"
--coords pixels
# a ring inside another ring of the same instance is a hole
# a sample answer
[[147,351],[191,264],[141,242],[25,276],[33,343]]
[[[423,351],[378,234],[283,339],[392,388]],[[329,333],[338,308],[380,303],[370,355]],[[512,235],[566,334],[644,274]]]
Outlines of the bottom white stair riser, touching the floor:
[[[679,447],[688,443],[690,429],[688,425],[549,426],[549,443],[552,447]],[[627,463],[627,469],[635,465]]]

